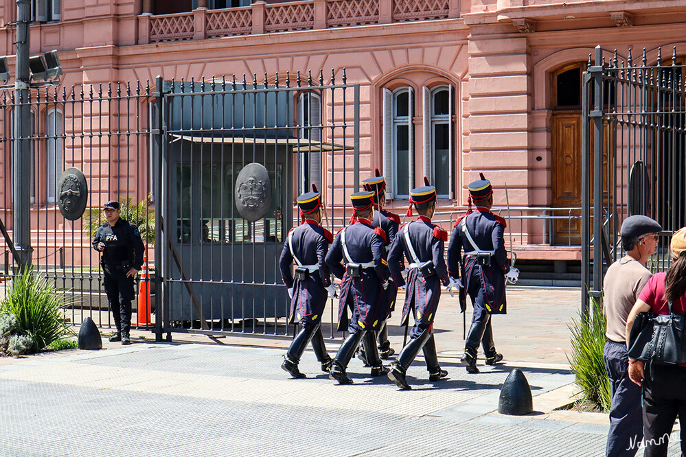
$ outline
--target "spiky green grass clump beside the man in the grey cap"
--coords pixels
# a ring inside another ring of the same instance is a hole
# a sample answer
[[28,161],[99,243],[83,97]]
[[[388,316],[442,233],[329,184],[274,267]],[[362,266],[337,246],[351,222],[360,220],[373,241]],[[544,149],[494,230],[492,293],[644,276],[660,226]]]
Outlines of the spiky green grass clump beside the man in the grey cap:
[[610,410],[610,378],[605,370],[606,317],[602,307],[592,301],[591,319],[584,323],[579,316],[568,325],[571,331],[571,358],[567,360],[576,375],[584,400],[595,403],[604,411]]

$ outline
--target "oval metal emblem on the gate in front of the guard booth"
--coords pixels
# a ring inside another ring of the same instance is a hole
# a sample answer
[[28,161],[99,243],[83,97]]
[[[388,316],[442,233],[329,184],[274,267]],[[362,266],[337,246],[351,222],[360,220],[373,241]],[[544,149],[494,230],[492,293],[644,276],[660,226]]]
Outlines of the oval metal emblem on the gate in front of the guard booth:
[[245,165],[234,189],[236,208],[244,219],[251,222],[264,218],[271,204],[271,179],[261,163]]

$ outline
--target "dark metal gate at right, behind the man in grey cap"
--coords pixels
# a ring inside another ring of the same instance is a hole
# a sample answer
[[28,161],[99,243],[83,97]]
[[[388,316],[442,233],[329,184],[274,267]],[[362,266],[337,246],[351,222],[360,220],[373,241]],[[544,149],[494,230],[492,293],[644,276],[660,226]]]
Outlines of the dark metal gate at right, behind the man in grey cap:
[[634,60],[629,49],[606,62],[599,46],[594,57],[582,91],[584,316],[589,295],[602,300],[604,269],[624,255],[626,217],[644,214],[663,226],[647,265],[653,272],[669,267],[672,233],[686,226],[686,66],[676,47],[665,60],[661,49],[652,60],[645,49]]

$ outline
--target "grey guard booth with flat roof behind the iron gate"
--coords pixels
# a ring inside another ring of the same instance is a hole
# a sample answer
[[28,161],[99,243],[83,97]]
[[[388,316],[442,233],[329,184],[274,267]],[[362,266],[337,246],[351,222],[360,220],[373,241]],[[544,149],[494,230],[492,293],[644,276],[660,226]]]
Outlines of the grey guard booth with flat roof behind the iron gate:
[[293,200],[321,187],[322,161],[346,149],[333,127],[323,131],[322,92],[163,82],[152,109],[162,127],[163,331],[287,332],[279,256]]

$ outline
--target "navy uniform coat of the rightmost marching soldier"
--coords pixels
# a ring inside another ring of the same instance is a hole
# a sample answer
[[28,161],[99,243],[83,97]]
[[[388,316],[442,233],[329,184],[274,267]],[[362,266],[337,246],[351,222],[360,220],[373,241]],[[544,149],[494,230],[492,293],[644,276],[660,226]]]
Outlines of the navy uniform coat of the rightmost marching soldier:
[[[475,255],[461,254],[476,250],[476,246],[462,232],[461,220],[466,218],[467,229],[481,250],[494,250],[491,266],[481,266]],[[505,251],[505,220],[488,209],[477,207],[476,211],[459,218],[453,225],[448,244],[448,269],[454,278],[459,276],[460,262],[464,262],[464,286],[475,307],[484,308],[490,314],[506,314],[505,273],[510,271],[510,261]]]

